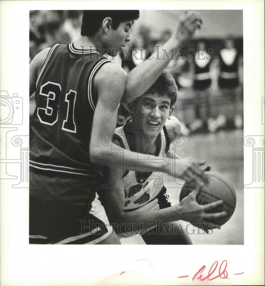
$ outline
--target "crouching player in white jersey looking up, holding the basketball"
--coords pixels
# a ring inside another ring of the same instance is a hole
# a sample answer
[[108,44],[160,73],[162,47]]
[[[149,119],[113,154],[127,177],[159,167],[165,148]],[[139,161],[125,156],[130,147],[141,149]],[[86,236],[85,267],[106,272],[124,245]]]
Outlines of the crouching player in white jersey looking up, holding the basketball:
[[[172,116],[177,98],[173,76],[163,72],[149,92],[132,100],[131,119],[116,128],[113,141],[127,150],[162,156],[180,133],[180,122]],[[122,172],[121,168],[117,172]],[[226,215],[226,212],[209,213],[222,201],[199,205],[196,202],[198,189],[186,197],[183,204],[171,206],[164,181],[161,172],[128,170],[122,173],[121,180],[108,178],[100,198],[117,233],[125,236],[135,234],[134,231],[142,233],[146,244],[191,244],[184,230],[177,223],[170,225],[169,222],[202,223],[206,230],[212,219]],[[212,227],[219,226],[212,224]]]

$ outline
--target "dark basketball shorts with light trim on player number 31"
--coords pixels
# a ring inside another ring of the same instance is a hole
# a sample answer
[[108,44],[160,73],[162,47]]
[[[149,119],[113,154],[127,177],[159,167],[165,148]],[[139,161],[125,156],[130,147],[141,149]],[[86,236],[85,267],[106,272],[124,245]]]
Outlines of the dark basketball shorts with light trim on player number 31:
[[[37,184],[42,187],[36,188]],[[29,190],[30,244],[96,244],[111,232],[89,178],[34,172]]]

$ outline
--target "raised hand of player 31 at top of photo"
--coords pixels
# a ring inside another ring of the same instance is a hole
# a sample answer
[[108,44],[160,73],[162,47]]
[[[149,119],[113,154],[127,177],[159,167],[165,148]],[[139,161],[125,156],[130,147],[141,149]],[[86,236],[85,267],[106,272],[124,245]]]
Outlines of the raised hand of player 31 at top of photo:
[[174,31],[172,37],[184,43],[190,40],[197,29],[200,29],[202,25],[202,18],[200,13],[196,11],[186,11],[181,15],[178,20],[176,30]]

